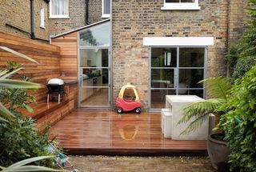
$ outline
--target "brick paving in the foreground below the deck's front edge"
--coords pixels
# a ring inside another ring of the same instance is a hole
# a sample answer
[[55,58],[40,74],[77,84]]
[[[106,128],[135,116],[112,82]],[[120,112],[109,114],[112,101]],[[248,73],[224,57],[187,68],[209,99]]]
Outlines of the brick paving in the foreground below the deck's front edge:
[[207,157],[70,156],[80,172],[215,172]]

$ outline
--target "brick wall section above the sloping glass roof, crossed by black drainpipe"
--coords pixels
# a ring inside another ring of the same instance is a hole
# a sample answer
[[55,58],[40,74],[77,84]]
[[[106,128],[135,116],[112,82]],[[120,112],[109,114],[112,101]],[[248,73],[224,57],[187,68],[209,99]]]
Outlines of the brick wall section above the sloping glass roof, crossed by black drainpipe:
[[[89,1],[90,24],[101,21],[102,0]],[[50,35],[62,34],[86,26],[86,0],[69,1],[70,18],[50,18]]]

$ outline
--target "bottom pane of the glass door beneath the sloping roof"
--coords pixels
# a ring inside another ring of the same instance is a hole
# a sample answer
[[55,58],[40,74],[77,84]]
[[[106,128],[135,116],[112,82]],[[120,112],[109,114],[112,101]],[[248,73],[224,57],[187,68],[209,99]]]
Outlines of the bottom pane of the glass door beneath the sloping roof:
[[82,106],[109,106],[108,88],[82,88]]

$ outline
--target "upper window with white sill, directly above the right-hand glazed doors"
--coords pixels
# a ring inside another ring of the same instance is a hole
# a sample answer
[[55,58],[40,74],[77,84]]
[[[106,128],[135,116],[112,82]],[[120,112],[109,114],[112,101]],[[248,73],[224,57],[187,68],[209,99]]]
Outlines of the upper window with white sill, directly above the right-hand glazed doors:
[[198,0],[164,0],[161,10],[200,10]]

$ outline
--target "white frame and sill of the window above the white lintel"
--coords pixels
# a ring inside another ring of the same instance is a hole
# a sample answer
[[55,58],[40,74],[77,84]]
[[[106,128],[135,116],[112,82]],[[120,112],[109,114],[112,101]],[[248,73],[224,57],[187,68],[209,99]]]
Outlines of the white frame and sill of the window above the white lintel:
[[166,2],[163,0],[164,4],[161,10],[200,10],[201,7],[198,4],[198,0],[194,2]]

